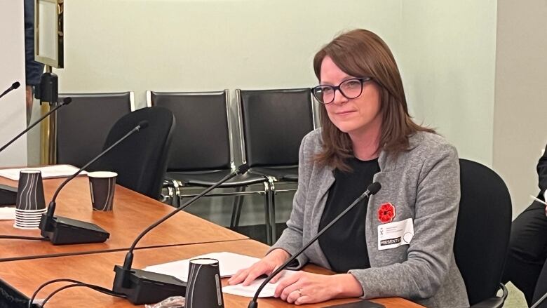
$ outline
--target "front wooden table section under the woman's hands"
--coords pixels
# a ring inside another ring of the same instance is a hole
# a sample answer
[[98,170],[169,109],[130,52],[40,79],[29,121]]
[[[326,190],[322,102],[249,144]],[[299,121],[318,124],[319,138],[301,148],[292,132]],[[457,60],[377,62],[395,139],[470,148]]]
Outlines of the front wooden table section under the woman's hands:
[[[135,252],[133,267],[142,269],[148,265],[187,259],[205,253],[229,251],[261,257],[268,246],[253,240],[224,241],[220,243],[203,243],[185,246],[146,248]],[[22,295],[30,297],[34,290],[51,279],[68,278],[112,288],[114,265],[121,265],[125,252],[98,253],[93,255],[72,255],[50,257],[46,259],[18,260],[0,262],[0,278],[7,285],[19,290]],[[310,272],[327,274],[326,269],[307,266]],[[226,284],[226,281],[223,281]],[[38,298],[46,297],[62,284],[44,288]],[[247,307],[249,297],[224,294],[224,307]],[[306,307],[327,307],[332,304],[355,301],[356,299],[332,300],[322,304],[309,304]],[[386,307],[421,307],[402,298],[379,298],[372,300]],[[46,307],[135,307],[127,300],[96,293],[88,288],[71,288],[63,290],[53,297]],[[144,307],[144,306],[141,306]],[[259,307],[295,307],[276,298],[259,299]]]

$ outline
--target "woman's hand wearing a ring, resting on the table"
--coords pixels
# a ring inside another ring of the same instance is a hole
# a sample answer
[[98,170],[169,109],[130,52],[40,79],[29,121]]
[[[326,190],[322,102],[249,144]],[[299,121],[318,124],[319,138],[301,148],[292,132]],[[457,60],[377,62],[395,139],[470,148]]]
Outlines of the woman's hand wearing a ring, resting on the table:
[[297,272],[281,279],[274,296],[290,304],[313,304],[332,298],[358,297],[362,294],[360,283],[351,274],[320,275]]

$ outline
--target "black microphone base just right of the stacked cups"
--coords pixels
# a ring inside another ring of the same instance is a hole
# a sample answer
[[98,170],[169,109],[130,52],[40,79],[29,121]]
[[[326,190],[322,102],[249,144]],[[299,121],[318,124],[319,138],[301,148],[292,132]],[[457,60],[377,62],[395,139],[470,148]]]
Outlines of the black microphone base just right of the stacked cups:
[[40,230],[41,235],[48,238],[53,245],[102,243],[110,236],[95,224],[47,214],[42,215]]

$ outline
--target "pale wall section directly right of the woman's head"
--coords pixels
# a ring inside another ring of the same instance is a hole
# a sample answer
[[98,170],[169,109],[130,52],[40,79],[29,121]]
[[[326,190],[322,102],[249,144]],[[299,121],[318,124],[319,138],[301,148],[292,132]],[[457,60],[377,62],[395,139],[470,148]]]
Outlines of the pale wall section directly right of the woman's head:
[[411,113],[461,158],[492,166],[496,0],[403,1],[400,66]]

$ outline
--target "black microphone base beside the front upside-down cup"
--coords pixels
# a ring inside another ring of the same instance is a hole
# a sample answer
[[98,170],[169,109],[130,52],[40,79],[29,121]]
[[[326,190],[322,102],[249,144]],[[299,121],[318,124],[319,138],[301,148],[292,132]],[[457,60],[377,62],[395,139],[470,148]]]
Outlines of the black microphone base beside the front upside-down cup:
[[187,283],[173,276],[119,265],[114,266],[114,272],[112,291],[126,295],[133,304],[155,304],[167,297],[186,295]]

